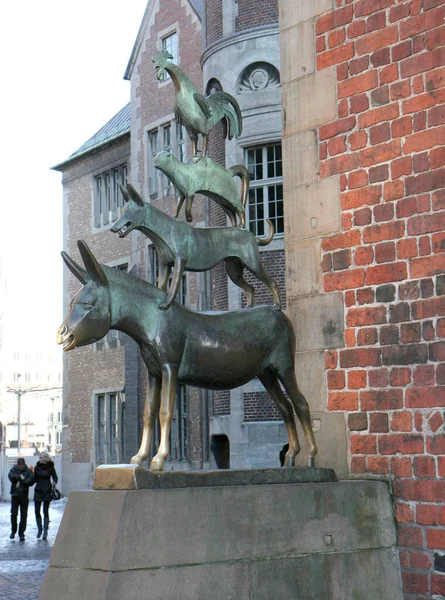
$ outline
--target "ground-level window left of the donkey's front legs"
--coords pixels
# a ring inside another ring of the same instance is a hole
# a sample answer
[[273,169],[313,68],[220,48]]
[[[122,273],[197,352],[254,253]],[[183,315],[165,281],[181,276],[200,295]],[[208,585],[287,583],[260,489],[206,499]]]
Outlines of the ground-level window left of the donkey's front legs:
[[96,463],[118,464],[123,457],[123,406],[119,392],[95,397]]

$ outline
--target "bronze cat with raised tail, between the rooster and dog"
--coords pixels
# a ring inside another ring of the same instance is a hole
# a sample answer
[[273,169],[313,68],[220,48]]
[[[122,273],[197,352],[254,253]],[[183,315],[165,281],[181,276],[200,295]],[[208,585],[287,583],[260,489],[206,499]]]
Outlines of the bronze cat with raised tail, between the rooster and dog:
[[[225,169],[208,158],[206,164],[196,159],[189,163],[179,161],[170,152],[159,152],[154,165],[173,183],[176,195],[177,218],[184,200],[185,216],[192,221],[192,203],[195,194],[204,194],[217,202],[230,218],[235,227],[238,216],[241,227],[246,226],[245,208],[249,193],[249,171],[244,165],[235,165]],[[234,177],[241,179],[241,200]]]

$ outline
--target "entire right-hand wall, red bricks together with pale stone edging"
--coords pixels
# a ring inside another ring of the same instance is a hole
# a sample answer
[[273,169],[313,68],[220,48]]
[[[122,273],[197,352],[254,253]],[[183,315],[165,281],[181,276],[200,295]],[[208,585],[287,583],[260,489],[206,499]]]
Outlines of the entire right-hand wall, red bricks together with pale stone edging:
[[350,472],[393,479],[416,600],[445,597],[444,18],[443,0],[280,0],[297,359]]

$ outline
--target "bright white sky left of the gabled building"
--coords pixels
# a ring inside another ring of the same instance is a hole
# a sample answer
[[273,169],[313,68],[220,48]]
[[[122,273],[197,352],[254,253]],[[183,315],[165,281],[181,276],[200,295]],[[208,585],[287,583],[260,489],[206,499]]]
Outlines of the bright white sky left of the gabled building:
[[146,5],[0,4],[0,268],[4,337],[16,347],[55,347],[63,318],[62,176],[50,168],[129,102],[123,75]]

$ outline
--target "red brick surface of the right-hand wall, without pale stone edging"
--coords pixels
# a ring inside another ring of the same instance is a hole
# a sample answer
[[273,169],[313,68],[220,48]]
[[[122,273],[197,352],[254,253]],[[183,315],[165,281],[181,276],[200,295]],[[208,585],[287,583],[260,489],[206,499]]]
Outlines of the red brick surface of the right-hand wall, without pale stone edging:
[[342,231],[324,288],[345,303],[326,355],[351,471],[391,474],[407,598],[445,595],[445,1],[337,0],[317,68],[337,70],[320,176],[340,175]]

